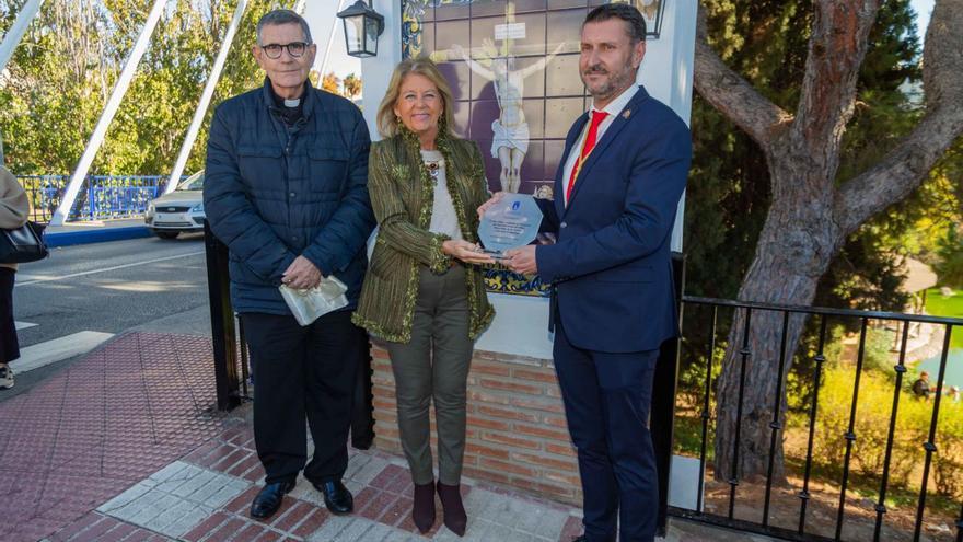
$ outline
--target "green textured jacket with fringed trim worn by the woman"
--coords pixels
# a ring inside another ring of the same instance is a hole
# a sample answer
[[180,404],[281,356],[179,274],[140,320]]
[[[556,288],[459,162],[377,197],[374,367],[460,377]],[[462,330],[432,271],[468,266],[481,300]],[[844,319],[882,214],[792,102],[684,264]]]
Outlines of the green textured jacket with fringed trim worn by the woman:
[[[440,135],[437,145],[444,157],[448,188],[462,237],[477,242],[475,209],[489,197],[481,153],[477,145],[464,139]],[[385,341],[407,343],[411,339],[419,267],[441,274],[451,264],[451,257],[441,250],[448,235],[428,231],[434,178],[421,160],[414,134],[403,130],[402,135],[372,143],[368,192],[378,219],[378,241],[351,320]],[[468,335],[475,339],[491,323],[495,310],[485,291],[485,269],[464,265]]]

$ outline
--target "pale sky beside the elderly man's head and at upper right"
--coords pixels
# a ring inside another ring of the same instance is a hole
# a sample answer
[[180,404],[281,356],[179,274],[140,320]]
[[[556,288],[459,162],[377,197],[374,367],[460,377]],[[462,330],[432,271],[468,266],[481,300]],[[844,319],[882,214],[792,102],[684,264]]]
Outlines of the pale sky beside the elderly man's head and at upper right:
[[[357,58],[349,57],[345,50],[345,30],[337,12],[346,8],[352,0],[320,0],[309,1],[304,15],[311,23],[312,32],[315,33],[314,41],[317,43],[317,60],[315,69],[321,70],[324,62],[325,50],[327,49],[328,37],[332,32],[332,24],[337,22],[335,26],[334,41],[330,42],[330,56],[328,58],[325,72],[334,71],[336,76],[343,78],[348,73],[361,74],[361,61]],[[919,32],[919,38],[923,41],[926,35],[926,27],[929,24],[929,15],[932,12],[935,0],[910,0],[909,4],[917,13],[916,26]],[[336,4],[340,3],[339,7]],[[384,35],[382,35],[382,39]]]

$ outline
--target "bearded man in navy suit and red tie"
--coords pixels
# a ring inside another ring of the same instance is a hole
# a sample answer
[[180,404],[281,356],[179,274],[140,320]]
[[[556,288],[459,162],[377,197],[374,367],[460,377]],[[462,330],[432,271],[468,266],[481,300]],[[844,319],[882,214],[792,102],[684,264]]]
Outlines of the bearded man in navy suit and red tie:
[[584,492],[578,541],[613,541],[618,523],[623,542],[655,537],[648,417],[659,347],[678,332],[670,239],[692,142],[636,83],[645,36],[628,4],[589,13],[579,71],[593,105],[569,130],[555,201],[536,200],[558,241],[504,260],[552,285],[555,368]]

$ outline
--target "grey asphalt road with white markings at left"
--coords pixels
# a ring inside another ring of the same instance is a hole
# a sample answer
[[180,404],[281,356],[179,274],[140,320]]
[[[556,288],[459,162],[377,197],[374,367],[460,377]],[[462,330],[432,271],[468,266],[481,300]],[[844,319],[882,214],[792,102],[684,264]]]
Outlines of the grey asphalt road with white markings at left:
[[[209,333],[201,234],[51,250],[16,273],[13,312],[37,324],[18,332],[21,348],[82,331]],[[78,356],[77,358],[82,357]],[[23,393],[77,358],[18,373],[0,401]],[[16,371],[16,361],[12,365]]]

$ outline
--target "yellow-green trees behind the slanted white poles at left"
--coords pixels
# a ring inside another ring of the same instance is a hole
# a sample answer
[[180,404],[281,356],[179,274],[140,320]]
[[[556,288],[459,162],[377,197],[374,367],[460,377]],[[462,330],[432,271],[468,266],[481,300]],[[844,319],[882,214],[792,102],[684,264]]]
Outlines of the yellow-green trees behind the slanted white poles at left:
[[[0,0],[0,34],[10,28],[23,3]],[[264,73],[251,55],[255,24],[276,4],[248,2],[185,173],[204,168],[213,105],[260,85]],[[11,171],[73,170],[150,7],[142,0],[44,2],[0,79],[0,132]],[[234,0],[169,4],[91,172],[171,171],[235,7]],[[326,84],[326,90],[360,94],[359,78],[330,78],[335,84]],[[312,80],[317,84],[316,74]]]

